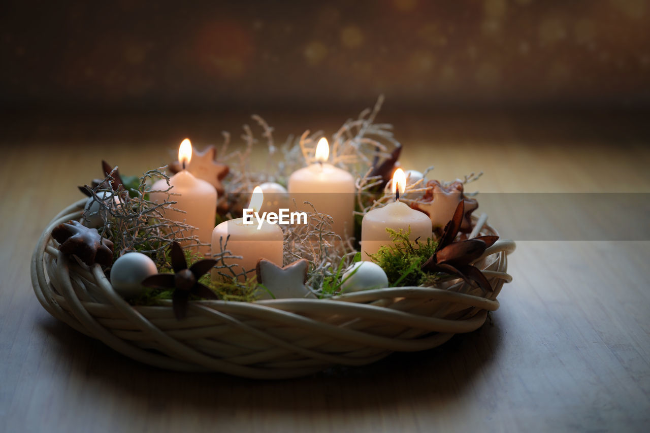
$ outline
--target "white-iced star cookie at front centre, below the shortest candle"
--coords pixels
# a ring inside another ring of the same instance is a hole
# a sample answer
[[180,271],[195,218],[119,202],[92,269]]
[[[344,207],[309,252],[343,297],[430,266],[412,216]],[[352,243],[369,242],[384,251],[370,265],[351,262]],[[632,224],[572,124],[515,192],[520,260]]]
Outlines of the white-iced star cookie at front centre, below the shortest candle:
[[285,267],[280,267],[266,259],[259,259],[255,267],[257,282],[266,287],[266,290],[259,291],[259,299],[272,299],[270,293],[276,299],[315,298],[316,296],[305,287],[308,267],[307,259],[294,261]]

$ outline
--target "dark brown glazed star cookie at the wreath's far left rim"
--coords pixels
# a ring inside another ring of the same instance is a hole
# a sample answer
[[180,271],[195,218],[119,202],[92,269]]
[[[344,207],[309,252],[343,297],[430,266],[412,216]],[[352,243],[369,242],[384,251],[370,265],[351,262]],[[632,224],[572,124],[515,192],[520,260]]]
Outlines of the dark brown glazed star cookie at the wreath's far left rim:
[[79,221],[59,224],[52,230],[52,237],[60,244],[60,252],[68,256],[74,254],[88,266],[95,263],[110,266],[113,262],[113,243],[101,237],[97,229],[88,228]]

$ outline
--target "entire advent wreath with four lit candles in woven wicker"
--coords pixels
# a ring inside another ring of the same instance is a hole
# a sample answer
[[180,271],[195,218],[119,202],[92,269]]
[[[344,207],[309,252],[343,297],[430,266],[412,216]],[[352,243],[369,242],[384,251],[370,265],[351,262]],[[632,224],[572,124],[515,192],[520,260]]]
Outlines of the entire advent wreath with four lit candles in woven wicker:
[[[278,145],[252,116],[142,176],[102,161],[45,228],[31,263],[42,306],[149,365],[289,378],[426,350],[484,324],[512,241],[474,215],[481,176],[402,170],[383,98],[331,137]],[[265,152],[265,168],[253,155]],[[331,151],[330,151],[331,148]],[[305,166],[306,163],[306,166]]]

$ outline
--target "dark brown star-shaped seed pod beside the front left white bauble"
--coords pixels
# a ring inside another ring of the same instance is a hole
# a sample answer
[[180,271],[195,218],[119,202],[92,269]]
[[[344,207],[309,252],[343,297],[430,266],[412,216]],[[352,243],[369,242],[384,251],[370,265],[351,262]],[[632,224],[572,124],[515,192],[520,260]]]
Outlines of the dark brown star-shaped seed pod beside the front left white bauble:
[[174,289],[172,306],[174,307],[176,319],[180,320],[187,315],[187,302],[190,299],[190,295],[199,296],[200,298],[217,299],[213,291],[198,282],[203,274],[216,265],[216,260],[199,260],[188,269],[183,248],[177,242],[172,243],[172,246],[170,246],[170,256],[172,258],[174,274],[155,274],[149,276],[142,281],[142,285],[156,289]]

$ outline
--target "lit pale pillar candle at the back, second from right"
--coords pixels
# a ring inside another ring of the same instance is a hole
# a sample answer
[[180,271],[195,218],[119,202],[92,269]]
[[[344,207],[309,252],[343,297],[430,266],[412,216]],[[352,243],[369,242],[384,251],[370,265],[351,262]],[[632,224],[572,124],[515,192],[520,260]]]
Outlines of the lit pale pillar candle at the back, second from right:
[[354,234],[354,177],[326,163],[329,155],[326,138],[320,138],[315,153],[318,162],[291,174],[289,195],[296,200],[298,211],[313,212],[311,206],[304,204],[307,201],[318,212],[330,215],[334,220],[332,230],[346,239]]

